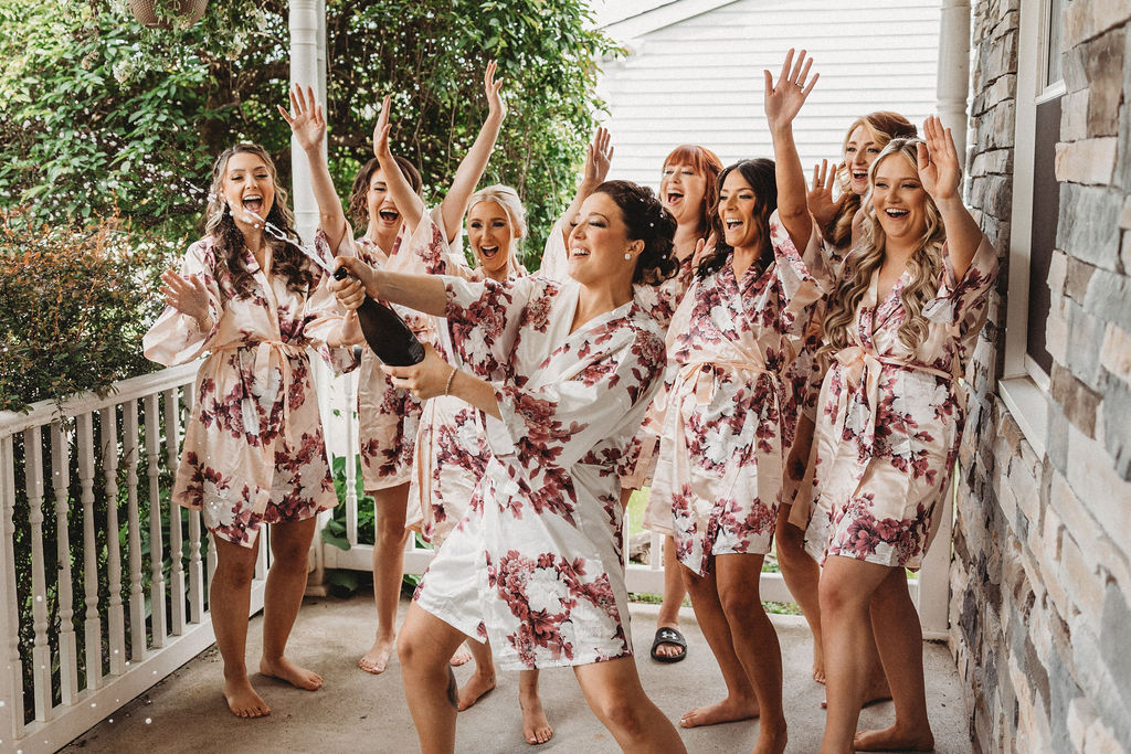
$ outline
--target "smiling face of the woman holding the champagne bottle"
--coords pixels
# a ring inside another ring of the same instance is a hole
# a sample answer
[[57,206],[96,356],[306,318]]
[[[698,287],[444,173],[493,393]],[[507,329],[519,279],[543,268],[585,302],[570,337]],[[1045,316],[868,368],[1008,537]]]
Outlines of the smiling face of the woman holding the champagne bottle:
[[[621,208],[612,197],[589,194],[567,242],[570,277],[582,285],[625,276],[631,280],[644,241],[631,241],[628,233]],[[629,259],[624,259],[625,253]]]

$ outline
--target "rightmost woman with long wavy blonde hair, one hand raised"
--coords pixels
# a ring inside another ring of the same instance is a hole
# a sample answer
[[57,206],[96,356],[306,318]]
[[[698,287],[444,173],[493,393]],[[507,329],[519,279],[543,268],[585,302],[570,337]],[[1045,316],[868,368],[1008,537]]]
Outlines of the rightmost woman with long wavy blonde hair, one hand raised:
[[[962,206],[936,118],[926,142],[892,140],[872,164],[862,242],[824,320],[831,366],[818,401],[805,544],[823,561],[827,751],[927,751],[917,569],[951,494],[964,410],[958,378],[984,321],[996,254]],[[882,616],[873,621],[871,616]],[[875,643],[896,723],[856,735]]]

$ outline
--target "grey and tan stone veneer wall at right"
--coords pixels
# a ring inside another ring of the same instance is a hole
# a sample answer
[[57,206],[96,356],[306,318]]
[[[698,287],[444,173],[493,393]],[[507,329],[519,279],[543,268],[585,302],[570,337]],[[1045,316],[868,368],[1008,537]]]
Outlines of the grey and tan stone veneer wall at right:
[[972,3],[968,190],[1003,263],[967,372],[951,647],[975,751],[1131,751],[1131,1],[1068,5],[1043,456],[996,392],[1019,1]]

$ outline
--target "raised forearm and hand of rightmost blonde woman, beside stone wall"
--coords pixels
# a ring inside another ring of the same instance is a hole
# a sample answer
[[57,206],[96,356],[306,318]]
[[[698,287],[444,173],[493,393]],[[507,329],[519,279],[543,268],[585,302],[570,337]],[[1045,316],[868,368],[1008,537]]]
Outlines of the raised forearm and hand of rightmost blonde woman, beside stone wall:
[[923,123],[926,141],[918,145],[918,172],[923,190],[931,194],[947,228],[947,249],[955,276],[962,277],[982,243],[982,229],[962,203],[958,188],[962,168],[950,129],[936,115]]

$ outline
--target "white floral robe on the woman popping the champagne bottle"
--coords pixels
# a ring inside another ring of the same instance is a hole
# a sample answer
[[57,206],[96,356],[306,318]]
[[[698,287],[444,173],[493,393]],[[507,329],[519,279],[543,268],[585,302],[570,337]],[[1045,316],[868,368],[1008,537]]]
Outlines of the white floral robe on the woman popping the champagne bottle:
[[570,332],[577,283],[447,280],[458,363],[503,418],[486,419],[483,478],[416,599],[490,635],[503,668],[629,656],[616,473],[663,372],[659,328],[629,302]]

